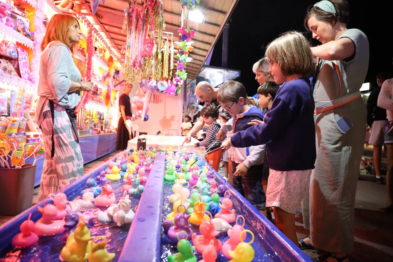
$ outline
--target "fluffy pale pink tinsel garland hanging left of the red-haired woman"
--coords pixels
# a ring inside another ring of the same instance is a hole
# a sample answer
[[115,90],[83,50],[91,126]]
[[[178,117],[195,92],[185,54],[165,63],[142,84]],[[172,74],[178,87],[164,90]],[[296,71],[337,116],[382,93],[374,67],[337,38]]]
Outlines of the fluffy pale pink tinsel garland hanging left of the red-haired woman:
[[[33,82],[33,89],[37,91],[38,81],[39,81],[39,68],[40,68],[40,57],[41,57],[41,42],[44,38],[45,34],[45,26],[44,26],[44,0],[37,0],[37,9],[35,10],[34,15],[34,25],[35,25],[35,33],[34,33],[34,49],[33,49],[33,59],[31,59],[31,78]],[[37,94],[37,92],[34,92]]]

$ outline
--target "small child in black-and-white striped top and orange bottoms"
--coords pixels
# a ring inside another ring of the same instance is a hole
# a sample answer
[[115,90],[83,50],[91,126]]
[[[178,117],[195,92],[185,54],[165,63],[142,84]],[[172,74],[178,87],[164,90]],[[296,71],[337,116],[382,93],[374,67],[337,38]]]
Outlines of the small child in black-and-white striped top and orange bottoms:
[[[216,139],[216,135],[221,127],[220,124],[217,123],[217,119],[219,118],[219,109],[216,107],[215,104],[210,103],[202,108],[202,110],[200,111],[200,115],[203,117],[205,124],[209,125],[209,127],[206,131],[206,137],[204,138],[204,140],[196,143],[195,146],[203,146],[208,149],[214,144],[209,149],[209,151],[219,148],[221,146],[221,142],[217,141]],[[214,153],[207,155],[206,157],[209,165],[211,165],[213,169],[217,172],[219,171],[221,157],[221,150],[217,150]]]

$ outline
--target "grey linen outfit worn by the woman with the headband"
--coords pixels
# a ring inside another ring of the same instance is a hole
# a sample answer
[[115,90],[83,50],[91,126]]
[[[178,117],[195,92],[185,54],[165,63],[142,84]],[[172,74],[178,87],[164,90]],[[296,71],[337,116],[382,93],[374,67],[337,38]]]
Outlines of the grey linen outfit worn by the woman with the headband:
[[[334,75],[332,61],[322,60],[314,85],[315,101],[331,101],[358,91],[369,63],[369,42],[357,29],[346,30],[355,54],[338,61],[342,90]],[[316,103],[320,105],[320,103]],[[310,179],[310,194],[302,201],[304,227],[310,229],[311,244],[333,253],[351,253],[356,185],[363,153],[366,106],[361,98],[314,117],[317,157]],[[345,116],[353,127],[343,133],[337,120]]]

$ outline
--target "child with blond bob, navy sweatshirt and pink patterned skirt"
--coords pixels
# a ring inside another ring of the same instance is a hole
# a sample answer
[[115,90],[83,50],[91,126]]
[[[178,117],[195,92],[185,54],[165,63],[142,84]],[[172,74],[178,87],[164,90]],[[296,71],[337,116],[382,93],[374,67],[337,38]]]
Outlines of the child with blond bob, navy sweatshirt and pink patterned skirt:
[[298,32],[288,32],[266,49],[269,72],[282,83],[264,123],[253,125],[228,139],[226,146],[245,147],[266,144],[270,168],[266,206],[274,207],[276,225],[298,244],[296,209],[310,186],[316,159],[314,99],[310,80],[315,70],[310,44]]

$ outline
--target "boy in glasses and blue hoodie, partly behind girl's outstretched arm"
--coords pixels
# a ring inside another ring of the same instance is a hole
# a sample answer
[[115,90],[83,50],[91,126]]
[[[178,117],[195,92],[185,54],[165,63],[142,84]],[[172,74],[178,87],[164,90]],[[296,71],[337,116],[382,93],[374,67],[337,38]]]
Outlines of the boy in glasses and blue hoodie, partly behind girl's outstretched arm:
[[[253,120],[263,120],[263,114],[256,106],[248,106],[247,93],[244,86],[236,81],[228,80],[220,88],[217,101],[232,117],[230,129],[233,134],[251,127]],[[225,132],[226,131],[226,132]],[[229,128],[223,127],[220,133],[227,133]],[[219,134],[220,135],[220,134]],[[230,138],[228,138],[229,140]],[[263,160],[265,146],[250,146],[230,149],[232,161],[232,185],[255,208],[266,216],[266,196],[262,187]]]

